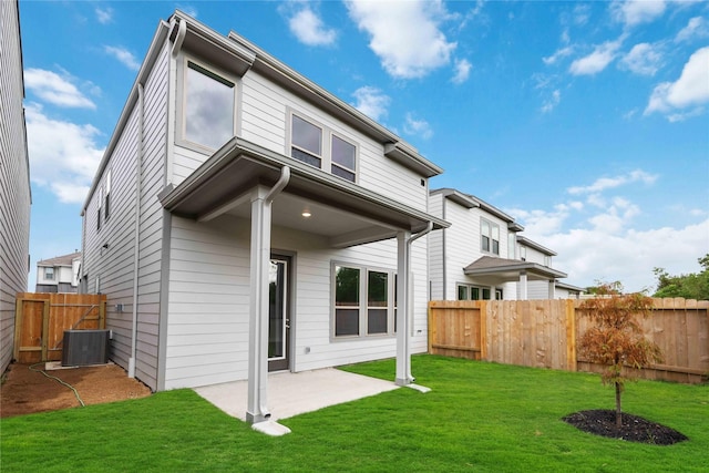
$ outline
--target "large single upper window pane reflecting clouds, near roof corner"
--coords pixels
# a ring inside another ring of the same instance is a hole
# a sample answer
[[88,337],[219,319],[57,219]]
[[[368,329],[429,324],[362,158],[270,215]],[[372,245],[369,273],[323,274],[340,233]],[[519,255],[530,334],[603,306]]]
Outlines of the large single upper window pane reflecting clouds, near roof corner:
[[216,150],[234,136],[233,82],[187,62],[184,137]]

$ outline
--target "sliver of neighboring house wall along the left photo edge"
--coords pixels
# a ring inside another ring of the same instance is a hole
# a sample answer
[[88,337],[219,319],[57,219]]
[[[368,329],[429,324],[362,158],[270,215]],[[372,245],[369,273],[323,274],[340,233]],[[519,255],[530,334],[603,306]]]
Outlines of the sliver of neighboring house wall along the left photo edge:
[[0,373],[12,359],[14,302],[30,269],[30,166],[18,1],[0,2]]

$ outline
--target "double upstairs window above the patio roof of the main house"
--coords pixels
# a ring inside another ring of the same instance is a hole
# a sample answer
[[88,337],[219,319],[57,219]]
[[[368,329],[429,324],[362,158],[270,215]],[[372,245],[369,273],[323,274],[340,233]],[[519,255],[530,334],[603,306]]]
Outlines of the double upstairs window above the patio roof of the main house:
[[357,146],[295,113],[290,120],[290,157],[357,182]]

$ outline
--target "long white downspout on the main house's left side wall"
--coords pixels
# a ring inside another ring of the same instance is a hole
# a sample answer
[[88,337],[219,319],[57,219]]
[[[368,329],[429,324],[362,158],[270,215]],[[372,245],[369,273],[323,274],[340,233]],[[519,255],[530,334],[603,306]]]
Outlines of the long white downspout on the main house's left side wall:
[[141,186],[143,171],[143,135],[144,135],[144,114],[145,114],[145,96],[143,84],[137,84],[137,110],[138,110],[138,127],[137,127],[137,157],[135,163],[135,237],[134,237],[134,257],[133,257],[133,319],[131,321],[131,358],[129,358],[129,378],[135,378],[135,354],[137,351],[137,276],[141,253]]

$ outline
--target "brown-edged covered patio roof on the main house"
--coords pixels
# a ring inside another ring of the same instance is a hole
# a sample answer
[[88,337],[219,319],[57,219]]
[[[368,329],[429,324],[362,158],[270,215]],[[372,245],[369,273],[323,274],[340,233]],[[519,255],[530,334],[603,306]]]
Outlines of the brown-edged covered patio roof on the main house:
[[[284,167],[290,181],[274,200],[273,224],[320,235],[345,248],[397,236],[400,230],[449,227],[445,220],[403,205],[288,156],[234,137],[177,186],[158,195],[173,215],[207,222],[220,215],[248,218],[253,189],[271,187]],[[304,212],[310,217],[305,218]]]

